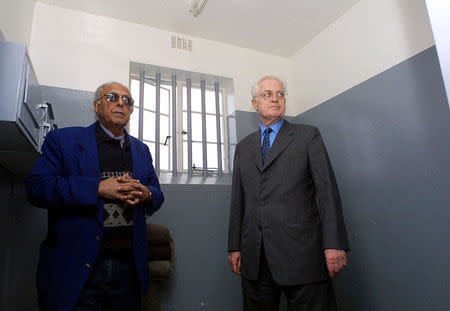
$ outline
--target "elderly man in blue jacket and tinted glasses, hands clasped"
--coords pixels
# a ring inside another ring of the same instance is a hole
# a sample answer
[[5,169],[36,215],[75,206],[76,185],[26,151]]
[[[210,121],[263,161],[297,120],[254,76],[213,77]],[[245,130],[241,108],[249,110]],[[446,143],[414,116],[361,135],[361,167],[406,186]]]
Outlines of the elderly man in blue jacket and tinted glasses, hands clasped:
[[140,310],[149,289],[145,218],[164,197],[148,147],[125,130],[133,102],[122,84],[101,85],[98,122],[48,133],[26,178],[30,202],[48,211],[41,310]]

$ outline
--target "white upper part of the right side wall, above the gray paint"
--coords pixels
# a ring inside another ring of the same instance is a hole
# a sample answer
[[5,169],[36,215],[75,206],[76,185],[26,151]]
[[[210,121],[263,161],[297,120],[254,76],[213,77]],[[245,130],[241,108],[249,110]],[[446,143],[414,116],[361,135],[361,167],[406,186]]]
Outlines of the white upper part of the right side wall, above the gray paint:
[[361,0],[292,58],[289,100],[296,105],[290,113],[319,105],[433,44],[424,0]]

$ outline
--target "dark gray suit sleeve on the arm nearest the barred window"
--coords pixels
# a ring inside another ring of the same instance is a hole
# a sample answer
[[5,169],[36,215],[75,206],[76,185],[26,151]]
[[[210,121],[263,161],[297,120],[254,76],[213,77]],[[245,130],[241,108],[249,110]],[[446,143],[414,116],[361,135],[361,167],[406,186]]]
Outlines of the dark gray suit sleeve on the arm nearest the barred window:
[[242,218],[245,211],[244,189],[242,187],[239,166],[239,145],[236,146],[233,164],[233,182],[231,186],[230,222],[228,226],[228,251],[241,249]]

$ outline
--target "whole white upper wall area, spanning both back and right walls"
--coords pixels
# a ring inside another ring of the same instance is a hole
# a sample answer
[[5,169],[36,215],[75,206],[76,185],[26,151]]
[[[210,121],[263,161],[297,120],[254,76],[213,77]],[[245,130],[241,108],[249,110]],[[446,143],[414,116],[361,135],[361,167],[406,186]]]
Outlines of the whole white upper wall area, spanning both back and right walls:
[[180,52],[171,34],[38,2],[30,54],[41,84],[80,90],[127,84],[130,61],[230,77],[244,111],[253,81],[274,73],[288,83],[286,114],[298,115],[434,44],[424,0],[361,0],[292,58],[200,38]]

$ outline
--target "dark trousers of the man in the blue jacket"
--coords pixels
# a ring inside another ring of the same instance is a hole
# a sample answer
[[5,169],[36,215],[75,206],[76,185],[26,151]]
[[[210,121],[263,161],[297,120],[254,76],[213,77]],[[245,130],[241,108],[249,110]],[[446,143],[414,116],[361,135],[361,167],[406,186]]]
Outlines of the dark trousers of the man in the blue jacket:
[[141,285],[134,259],[100,255],[73,311],[139,311]]

